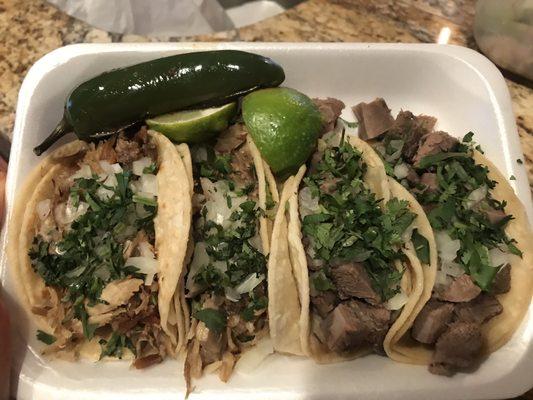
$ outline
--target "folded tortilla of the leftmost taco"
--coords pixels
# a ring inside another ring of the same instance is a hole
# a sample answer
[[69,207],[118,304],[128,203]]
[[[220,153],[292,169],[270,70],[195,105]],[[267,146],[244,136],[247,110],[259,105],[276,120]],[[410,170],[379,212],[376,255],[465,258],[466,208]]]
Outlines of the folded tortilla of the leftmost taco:
[[[150,337],[165,347],[164,354],[173,355],[183,346],[187,334],[184,318],[180,317],[182,313],[177,309],[180,305],[177,298],[179,298],[179,283],[183,281],[183,263],[190,230],[192,188],[189,185],[183,156],[180,156],[175,146],[166,137],[156,132],[144,132],[144,138],[151,148],[150,151],[155,152],[153,162],[157,168],[154,179],[157,186],[157,214],[153,220],[154,243],[150,244],[145,239],[145,250],[143,251],[148,251],[155,257],[151,265],[157,265],[156,270],[152,272],[152,275],[155,272],[153,280],[157,283],[148,285],[147,280],[143,282],[142,277],[144,275],[127,275],[120,280],[108,281],[100,294],[102,303],[95,305],[86,303],[84,309],[88,318],[86,322],[93,328],[109,327],[115,318],[126,312],[128,302],[133,299],[133,296],[137,294],[142,298],[143,295],[140,293],[145,292],[153,295],[154,293],[150,292],[150,288],[155,288],[157,301],[152,301],[157,304],[155,315],[158,321],[155,322],[156,328],[151,331],[152,336]],[[110,332],[107,328],[105,332],[96,330],[94,337],[90,340],[87,339],[82,332],[81,321],[72,318],[72,315],[69,316],[68,313],[72,309],[69,310],[68,307],[70,306],[64,306],[61,301],[61,294],[66,293],[67,289],[63,290],[60,287],[46,285],[35,265],[32,265],[32,259],[29,255],[30,249],[34,246],[34,240],[37,240],[37,236],[44,231],[41,230],[44,221],[47,218],[52,220],[59,218],[56,216],[54,207],[56,207],[56,201],[60,202],[58,199],[61,196],[63,196],[63,200],[65,199],[65,195],[61,194],[61,191],[69,190],[74,184],[72,176],[76,173],[80,174],[82,170],[86,171],[86,176],[82,176],[82,174],[80,177],[87,179],[91,177],[91,174],[94,178],[98,172],[102,173],[101,168],[103,167],[102,164],[99,164],[100,160],[106,160],[106,157],[116,158],[113,149],[114,143],[114,139],[110,139],[95,147],[93,144],[75,141],[55,150],[27,177],[16,197],[10,221],[7,251],[10,268],[12,268],[17,282],[20,300],[38,329],[50,335],[48,337],[50,346],[44,351],[67,359],[84,357],[97,360],[103,356],[107,358],[133,357],[132,351],[127,349],[124,352],[121,350],[113,351],[113,354],[102,353],[99,340],[110,340]],[[110,155],[109,152],[113,154]],[[91,154],[90,157],[89,154]],[[85,157],[88,157],[87,163],[84,162]],[[137,158],[139,157],[138,155]],[[118,168],[122,171],[118,163],[111,164],[108,162],[106,167]],[[112,175],[113,173],[109,172],[109,175],[105,176],[112,181]],[[153,177],[153,175],[150,176]],[[68,196],[66,198],[70,201]],[[79,207],[80,205],[77,210],[75,208],[73,210],[78,212]],[[67,210],[66,215],[70,211]],[[81,215],[83,213],[71,218],[69,224],[77,221]],[[59,222],[56,221],[54,226],[59,227]],[[69,232],[70,225],[68,226],[62,231],[61,240]],[[124,254],[128,251],[129,254],[140,251],[134,247],[137,245],[135,240],[139,234],[140,232],[130,232],[129,239],[123,243]],[[56,239],[53,240],[55,242]],[[131,247],[129,250],[128,246]],[[61,250],[56,251],[58,255],[61,254]],[[141,257],[137,257],[137,259],[139,258]],[[133,258],[129,260],[133,260]],[[148,274],[150,275],[150,273]],[[148,299],[145,298],[145,301]],[[146,304],[143,305],[143,307],[145,306]],[[141,306],[139,305],[139,307]],[[67,322],[68,327],[64,324],[65,318],[69,320]],[[143,324],[145,325],[142,326],[146,326],[148,322]],[[148,354],[152,356],[148,363],[160,361],[157,357],[164,358],[164,355],[157,354],[155,348],[152,353]],[[143,365],[146,365],[146,362]],[[142,367],[142,365],[137,365],[137,367]]]

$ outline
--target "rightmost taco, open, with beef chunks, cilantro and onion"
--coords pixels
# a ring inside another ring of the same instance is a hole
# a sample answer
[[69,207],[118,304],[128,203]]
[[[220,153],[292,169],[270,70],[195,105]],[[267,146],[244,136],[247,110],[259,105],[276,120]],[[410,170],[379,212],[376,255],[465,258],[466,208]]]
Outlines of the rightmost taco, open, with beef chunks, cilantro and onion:
[[394,119],[383,99],[354,112],[360,136],[424,207],[437,243],[437,272],[389,356],[435,374],[471,369],[511,338],[531,303],[524,207],[471,132],[459,141],[435,131],[433,117],[401,111]]

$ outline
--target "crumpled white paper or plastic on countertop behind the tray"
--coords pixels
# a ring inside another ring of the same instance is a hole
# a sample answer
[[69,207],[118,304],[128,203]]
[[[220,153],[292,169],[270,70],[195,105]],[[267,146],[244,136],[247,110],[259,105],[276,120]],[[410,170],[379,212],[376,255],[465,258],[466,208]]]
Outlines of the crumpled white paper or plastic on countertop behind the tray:
[[48,0],[99,29],[143,36],[227,31],[279,14],[302,0]]

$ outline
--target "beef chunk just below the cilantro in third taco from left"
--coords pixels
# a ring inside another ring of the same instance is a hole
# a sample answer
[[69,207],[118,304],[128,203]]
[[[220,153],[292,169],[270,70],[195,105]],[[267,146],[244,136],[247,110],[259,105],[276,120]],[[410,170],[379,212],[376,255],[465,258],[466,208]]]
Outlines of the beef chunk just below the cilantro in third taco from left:
[[378,304],[380,296],[372,288],[372,282],[361,263],[350,262],[331,269],[331,276],[341,299],[357,297]]

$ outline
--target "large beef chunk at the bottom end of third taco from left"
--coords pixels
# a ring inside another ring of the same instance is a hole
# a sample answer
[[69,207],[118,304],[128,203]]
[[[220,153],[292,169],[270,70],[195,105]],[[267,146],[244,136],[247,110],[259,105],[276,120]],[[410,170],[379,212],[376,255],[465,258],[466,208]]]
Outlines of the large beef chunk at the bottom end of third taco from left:
[[322,321],[322,330],[330,350],[348,352],[364,344],[381,346],[389,324],[386,308],[350,300],[335,307]]

